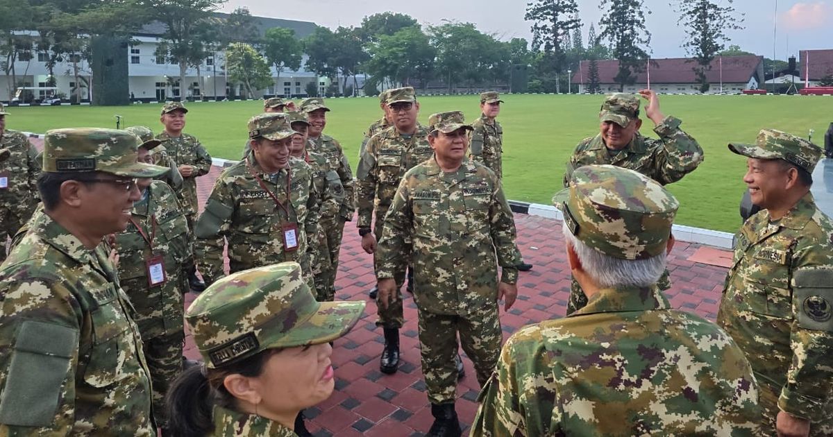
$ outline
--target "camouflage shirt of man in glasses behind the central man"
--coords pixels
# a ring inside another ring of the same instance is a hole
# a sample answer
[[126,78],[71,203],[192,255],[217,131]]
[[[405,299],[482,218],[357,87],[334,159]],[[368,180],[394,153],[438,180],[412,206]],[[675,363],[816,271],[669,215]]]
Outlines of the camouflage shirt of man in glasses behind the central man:
[[357,227],[370,227],[373,209],[382,223],[405,172],[434,156],[428,130],[421,125],[411,137],[402,137],[396,127],[374,135],[365,146],[356,170]]

